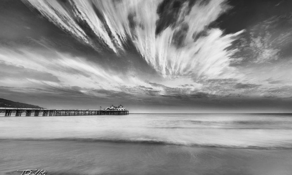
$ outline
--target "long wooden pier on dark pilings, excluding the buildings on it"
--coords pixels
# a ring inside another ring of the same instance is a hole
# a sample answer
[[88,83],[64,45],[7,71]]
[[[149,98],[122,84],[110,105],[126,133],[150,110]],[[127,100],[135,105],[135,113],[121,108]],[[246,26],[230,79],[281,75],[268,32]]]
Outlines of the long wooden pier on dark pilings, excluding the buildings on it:
[[0,107],[0,110],[6,110],[5,116],[11,116],[12,111],[16,111],[15,116],[21,116],[21,113],[23,112],[25,112],[25,116],[30,116],[31,114],[34,114],[34,116],[39,116],[40,112],[43,112],[42,116],[129,115],[128,110],[63,110],[63,109],[4,108],[4,107]]

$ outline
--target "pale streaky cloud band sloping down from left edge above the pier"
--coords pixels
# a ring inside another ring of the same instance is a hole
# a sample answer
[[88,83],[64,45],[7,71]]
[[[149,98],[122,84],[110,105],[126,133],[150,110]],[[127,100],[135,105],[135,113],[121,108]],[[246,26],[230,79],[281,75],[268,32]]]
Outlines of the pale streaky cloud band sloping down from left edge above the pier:
[[12,50],[0,47],[0,51],[1,64],[7,68],[16,68],[10,73],[19,74],[19,70],[24,71],[26,78],[30,75],[32,79],[62,81],[72,86],[82,81],[85,87],[91,87],[95,82],[105,87],[109,82],[124,82],[115,71],[105,70],[82,57],[73,57],[54,50],[50,50],[49,54],[42,54],[42,50],[32,51],[29,48]]

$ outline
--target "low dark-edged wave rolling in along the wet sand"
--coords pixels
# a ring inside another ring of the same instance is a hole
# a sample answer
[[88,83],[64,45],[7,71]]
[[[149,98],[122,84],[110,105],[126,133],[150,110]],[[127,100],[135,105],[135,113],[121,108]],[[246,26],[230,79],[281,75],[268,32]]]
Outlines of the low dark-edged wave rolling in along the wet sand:
[[95,139],[95,138],[3,138],[0,141],[80,141],[80,142],[108,142],[108,143],[136,143],[136,144],[156,144],[156,145],[176,145],[201,148],[229,148],[229,149],[292,149],[292,145],[287,146],[240,146],[240,145],[220,145],[220,144],[198,144],[170,140],[156,139]]

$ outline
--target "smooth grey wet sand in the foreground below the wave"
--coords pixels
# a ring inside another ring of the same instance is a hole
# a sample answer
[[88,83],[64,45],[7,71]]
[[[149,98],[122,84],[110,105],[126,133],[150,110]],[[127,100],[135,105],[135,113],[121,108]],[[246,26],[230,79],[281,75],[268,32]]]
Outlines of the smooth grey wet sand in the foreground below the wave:
[[291,174],[292,150],[223,149],[145,143],[0,140],[0,173]]

